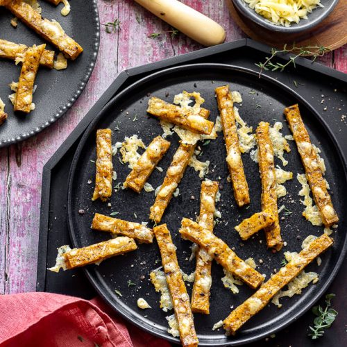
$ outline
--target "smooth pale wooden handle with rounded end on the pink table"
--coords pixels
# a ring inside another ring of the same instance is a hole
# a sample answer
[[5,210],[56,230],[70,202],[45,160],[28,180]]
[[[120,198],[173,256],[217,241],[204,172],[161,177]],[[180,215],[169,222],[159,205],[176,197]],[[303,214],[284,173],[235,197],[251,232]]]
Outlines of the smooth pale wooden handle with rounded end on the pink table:
[[226,40],[226,32],[218,23],[180,1],[135,1],[153,15],[204,46],[214,46],[214,44],[221,44]]

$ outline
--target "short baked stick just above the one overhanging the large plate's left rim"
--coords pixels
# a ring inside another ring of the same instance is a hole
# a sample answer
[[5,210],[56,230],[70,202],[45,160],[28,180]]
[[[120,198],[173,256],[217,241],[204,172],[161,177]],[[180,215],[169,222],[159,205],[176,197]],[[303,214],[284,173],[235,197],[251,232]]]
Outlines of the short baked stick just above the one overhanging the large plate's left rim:
[[92,221],[92,229],[112,232],[137,239],[138,242],[151,244],[153,242],[153,230],[133,221],[123,221],[122,219],[104,216],[96,213]]

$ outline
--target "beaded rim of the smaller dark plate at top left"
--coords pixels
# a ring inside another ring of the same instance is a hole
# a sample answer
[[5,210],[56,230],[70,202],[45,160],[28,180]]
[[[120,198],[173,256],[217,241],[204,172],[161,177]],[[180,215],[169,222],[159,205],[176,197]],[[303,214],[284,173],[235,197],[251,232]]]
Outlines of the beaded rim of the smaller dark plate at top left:
[[58,112],[56,112],[56,114],[53,115],[51,119],[49,119],[49,121],[46,121],[40,126],[38,126],[36,129],[31,130],[30,133],[18,135],[17,137],[15,137],[15,139],[13,138],[3,139],[3,140],[0,139],[0,148],[10,146],[11,144],[17,144],[17,142],[22,142],[25,139],[33,137],[37,135],[38,133],[41,133],[42,130],[44,130],[45,128],[48,128],[51,124],[55,123],[58,119],[60,119],[60,117],[65,115],[65,113],[72,107],[72,105],[74,105],[78,97],[82,94],[94,70],[95,62],[96,62],[96,58],[98,58],[99,46],[100,46],[100,22],[99,22],[99,10],[98,10],[97,0],[92,0],[91,5],[92,5],[92,11],[95,12],[94,25],[96,28],[96,32],[94,34],[94,45],[93,45],[94,49],[93,51],[90,52],[90,62],[88,63],[86,67],[87,73],[81,79],[81,83],[78,85],[77,91],[74,93],[74,95],[71,96],[69,100],[67,100],[67,102],[64,105],[62,105],[59,108]]

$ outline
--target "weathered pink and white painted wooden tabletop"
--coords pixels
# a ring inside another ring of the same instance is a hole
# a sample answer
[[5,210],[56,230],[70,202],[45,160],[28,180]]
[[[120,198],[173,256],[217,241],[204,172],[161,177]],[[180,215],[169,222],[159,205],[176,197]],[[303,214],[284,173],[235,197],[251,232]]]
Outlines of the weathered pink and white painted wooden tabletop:
[[[245,37],[230,17],[227,1],[183,2],[219,22],[226,29],[226,42]],[[0,150],[0,294],[35,291],[42,167],[96,100],[124,69],[202,48],[185,35],[147,37],[170,27],[134,1],[98,3],[101,23],[119,18],[121,30],[106,33],[101,28],[99,58],[85,91],[56,124],[28,141]],[[320,62],[347,72],[347,46],[326,54]]]

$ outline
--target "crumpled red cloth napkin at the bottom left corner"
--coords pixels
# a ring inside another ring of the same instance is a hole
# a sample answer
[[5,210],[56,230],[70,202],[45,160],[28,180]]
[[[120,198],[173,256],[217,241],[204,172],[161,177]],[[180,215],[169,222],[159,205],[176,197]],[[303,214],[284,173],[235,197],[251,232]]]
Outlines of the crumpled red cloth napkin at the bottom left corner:
[[0,296],[0,345],[35,347],[169,347],[126,323],[101,299],[50,293]]

